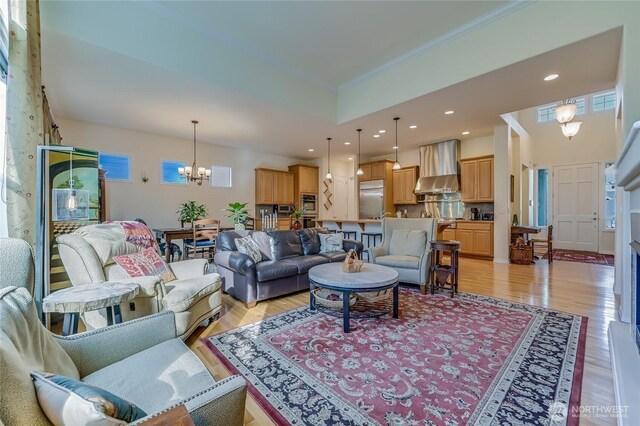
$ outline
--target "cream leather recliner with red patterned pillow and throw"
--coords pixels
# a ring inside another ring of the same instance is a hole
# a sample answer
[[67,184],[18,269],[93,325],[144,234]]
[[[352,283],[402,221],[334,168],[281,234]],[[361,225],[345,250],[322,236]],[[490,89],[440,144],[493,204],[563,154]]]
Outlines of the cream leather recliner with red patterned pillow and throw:
[[[207,274],[205,259],[170,263],[177,280],[165,283],[158,276],[131,278],[113,261],[114,256],[144,250],[126,240],[124,228],[117,222],[83,226],[56,240],[74,286],[105,281],[140,285],[138,296],[120,306],[123,321],[173,311],[178,335],[186,339],[198,324],[220,312],[222,280],[218,274]],[[82,319],[88,330],[107,325],[104,309],[86,312]]]

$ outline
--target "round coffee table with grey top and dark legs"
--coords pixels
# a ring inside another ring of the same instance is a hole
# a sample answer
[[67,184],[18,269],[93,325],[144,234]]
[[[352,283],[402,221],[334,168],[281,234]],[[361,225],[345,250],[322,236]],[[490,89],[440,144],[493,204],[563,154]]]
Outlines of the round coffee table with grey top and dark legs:
[[365,263],[356,273],[342,271],[340,263],[326,263],[309,269],[309,309],[315,311],[316,287],[342,292],[342,321],[345,333],[349,333],[349,294],[378,292],[393,289],[393,317],[398,318],[398,272],[386,266]]

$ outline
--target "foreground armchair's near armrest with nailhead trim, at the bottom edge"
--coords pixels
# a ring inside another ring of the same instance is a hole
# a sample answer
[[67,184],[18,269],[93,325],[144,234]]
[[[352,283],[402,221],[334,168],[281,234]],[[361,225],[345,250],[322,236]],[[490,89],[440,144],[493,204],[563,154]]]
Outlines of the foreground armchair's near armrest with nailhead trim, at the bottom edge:
[[196,425],[215,424],[242,426],[244,407],[247,398],[247,382],[241,376],[231,376],[215,385],[167,407],[164,411],[153,413],[132,423],[139,425],[167,410],[184,405]]

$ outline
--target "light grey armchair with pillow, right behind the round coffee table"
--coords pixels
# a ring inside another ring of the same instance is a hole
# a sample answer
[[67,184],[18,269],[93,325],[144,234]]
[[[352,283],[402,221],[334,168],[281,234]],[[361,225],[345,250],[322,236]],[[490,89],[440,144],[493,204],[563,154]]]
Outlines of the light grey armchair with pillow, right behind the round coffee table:
[[369,262],[395,269],[400,282],[418,284],[424,293],[436,231],[435,219],[384,219],[382,241],[369,249]]

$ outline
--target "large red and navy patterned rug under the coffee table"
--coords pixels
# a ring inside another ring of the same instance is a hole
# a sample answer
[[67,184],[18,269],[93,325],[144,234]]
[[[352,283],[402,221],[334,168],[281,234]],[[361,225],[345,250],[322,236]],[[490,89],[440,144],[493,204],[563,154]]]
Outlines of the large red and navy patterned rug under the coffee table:
[[280,425],[575,425],[587,317],[402,288],[400,318],[306,307],[204,339]]

